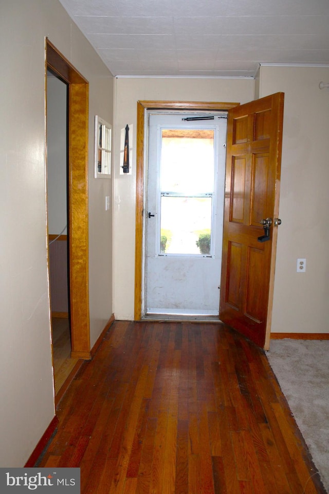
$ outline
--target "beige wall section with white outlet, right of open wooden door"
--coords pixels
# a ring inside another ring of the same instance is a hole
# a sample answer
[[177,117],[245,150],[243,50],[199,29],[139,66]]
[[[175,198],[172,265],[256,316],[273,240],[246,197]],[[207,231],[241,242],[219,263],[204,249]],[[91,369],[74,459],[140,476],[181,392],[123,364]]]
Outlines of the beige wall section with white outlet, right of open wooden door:
[[285,93],[273,332],[328,332],[329,91],[320,81],[329,68],[260,70],[260,97]]

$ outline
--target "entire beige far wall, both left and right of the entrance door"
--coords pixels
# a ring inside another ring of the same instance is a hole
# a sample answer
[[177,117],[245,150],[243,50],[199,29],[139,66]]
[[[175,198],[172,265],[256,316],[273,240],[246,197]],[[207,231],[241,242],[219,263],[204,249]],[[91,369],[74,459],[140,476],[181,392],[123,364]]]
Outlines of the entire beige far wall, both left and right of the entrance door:
[[[255,83],[227,79],[116,79],[115,296],[117,319],[134,316],[135,161],[119,175],[119,133],[136,124],[136,102],[145,100],[239,101],[285,93],[282,181],[272,332],[327,332],[329,258],[329,68],[262,66]],[[253,93],[255,91],[255,93]],[[306,273],[296,272],[306,257]]]

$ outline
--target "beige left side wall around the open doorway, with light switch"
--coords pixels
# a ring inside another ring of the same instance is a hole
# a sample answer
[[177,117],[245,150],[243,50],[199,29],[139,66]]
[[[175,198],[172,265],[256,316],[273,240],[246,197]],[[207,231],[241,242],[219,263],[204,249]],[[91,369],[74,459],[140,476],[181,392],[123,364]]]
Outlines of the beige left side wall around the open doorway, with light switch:
[[3,0],[0,15],[0,466],[23,466],[54,416],[45,195],[45,37],[90,82],[92,344],[112,313],[111,180],[94,177],[94,116],[112,122],[113,77],[53,0]]

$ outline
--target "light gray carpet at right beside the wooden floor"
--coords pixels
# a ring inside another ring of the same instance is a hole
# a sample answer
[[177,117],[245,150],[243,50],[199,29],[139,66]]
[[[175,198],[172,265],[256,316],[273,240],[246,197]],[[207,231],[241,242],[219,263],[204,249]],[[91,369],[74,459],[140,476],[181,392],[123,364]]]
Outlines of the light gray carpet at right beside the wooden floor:
[[329,492],[329,341],[271,340],[266,355]]

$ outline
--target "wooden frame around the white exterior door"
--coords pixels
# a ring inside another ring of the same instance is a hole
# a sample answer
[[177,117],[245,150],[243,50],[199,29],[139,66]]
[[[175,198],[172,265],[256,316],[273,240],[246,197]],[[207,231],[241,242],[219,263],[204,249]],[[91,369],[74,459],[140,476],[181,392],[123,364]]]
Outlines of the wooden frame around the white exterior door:
[[145,168],[145,113],[147,110],[216,111],[230,110],[240,103],[207,101],[137,101],[137,146],[136,146],[136,240],[135,240],[135,310],[134,319],[142,318],[143,276],[143,209]]

